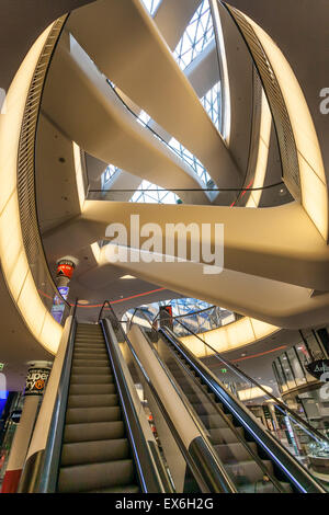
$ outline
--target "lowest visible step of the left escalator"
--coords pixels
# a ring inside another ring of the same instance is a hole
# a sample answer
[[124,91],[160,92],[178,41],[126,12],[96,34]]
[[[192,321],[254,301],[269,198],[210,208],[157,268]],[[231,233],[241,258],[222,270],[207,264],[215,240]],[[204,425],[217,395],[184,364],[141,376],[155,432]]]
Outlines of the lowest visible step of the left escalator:
[[75,493],[128,485],[134,483],[134,479],[131,459],[65,467],[59,471],[58,491]]

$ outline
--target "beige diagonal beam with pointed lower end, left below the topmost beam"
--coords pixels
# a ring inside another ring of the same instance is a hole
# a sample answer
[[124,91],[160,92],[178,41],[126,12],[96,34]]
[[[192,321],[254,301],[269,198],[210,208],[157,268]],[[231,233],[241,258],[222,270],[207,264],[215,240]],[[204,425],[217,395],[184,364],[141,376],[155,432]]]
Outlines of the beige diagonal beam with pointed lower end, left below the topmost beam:
[[[202,187],[193,169],[127,111],[79,45],[71,52],[67,42],[58,45],[43,108],[64,134],[103,162],[163,188]],[[193,202],[193,193],[182,197]],[[197,199],[207,202],[207,196],[198,193]]]

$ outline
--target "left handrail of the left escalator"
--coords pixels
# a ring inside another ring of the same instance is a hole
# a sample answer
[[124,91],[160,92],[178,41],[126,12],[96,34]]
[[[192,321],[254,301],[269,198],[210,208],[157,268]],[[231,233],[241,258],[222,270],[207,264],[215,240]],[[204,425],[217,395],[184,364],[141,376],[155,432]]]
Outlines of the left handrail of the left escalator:
[[36,484],[38,493],[55,493],[57,491],[64,426],[66,419],[68,391],[73,357],[73,346],[77,330],[77,306],[78,299],[71,308],[71,327],[68,336],[68,343],[66,347],[66,354],[61,368],[58,389],[56,393],[54,410],[52,414],[47,444],[41,465],[38,484]]

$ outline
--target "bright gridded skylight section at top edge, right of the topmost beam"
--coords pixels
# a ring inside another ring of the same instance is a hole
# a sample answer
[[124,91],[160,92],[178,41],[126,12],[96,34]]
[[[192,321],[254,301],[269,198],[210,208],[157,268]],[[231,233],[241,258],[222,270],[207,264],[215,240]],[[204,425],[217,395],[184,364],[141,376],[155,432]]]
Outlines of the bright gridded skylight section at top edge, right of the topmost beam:
[[203,0],[195,11],[173,55],[184,70],[214,37],[214,25],[208,0]]

